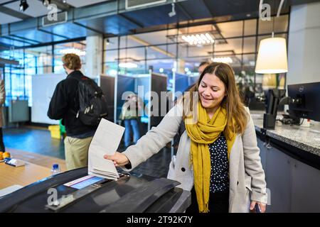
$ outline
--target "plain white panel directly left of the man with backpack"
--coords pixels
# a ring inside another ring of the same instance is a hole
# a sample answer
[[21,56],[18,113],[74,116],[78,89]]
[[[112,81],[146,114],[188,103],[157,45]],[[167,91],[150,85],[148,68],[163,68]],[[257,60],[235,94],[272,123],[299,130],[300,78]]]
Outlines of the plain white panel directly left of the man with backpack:
[[31,122],[59,124],[59,121],[48,118],[47,112],[55,86],[65,77],[65,74],[53,73],[33,75]]

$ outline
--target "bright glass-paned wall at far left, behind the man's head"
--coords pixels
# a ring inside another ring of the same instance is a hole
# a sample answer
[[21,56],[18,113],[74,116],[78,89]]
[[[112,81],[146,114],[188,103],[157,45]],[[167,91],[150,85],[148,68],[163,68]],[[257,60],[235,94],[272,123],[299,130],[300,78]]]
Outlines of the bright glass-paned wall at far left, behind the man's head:
[[[59,43],[37,48],[4,50],[0,56],[18,60],[19,65],[4,67],[6,106],[11,99],[28,99],[32,106],[32,76],[46,73],[65,73],[61,58],[69,50],[85,50],[85,40],[74,43]],[[81,55],[82,67],[85,67],[85,52]]]

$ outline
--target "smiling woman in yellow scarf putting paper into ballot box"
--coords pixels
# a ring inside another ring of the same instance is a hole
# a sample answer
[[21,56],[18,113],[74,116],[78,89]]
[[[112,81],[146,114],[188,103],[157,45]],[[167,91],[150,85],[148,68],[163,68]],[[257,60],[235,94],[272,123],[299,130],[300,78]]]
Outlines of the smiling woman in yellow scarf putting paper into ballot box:
[[[259,204],[265,212],[265,173],[255,126],[240,101],[232,68],[211,63],[190,92],[137,145],[105,158],[132,170],[174,138],[184,122],[186,131],[168,178],[191,191],[187,211],[248,212]],[[199,99],[191,99],[193,94]]]

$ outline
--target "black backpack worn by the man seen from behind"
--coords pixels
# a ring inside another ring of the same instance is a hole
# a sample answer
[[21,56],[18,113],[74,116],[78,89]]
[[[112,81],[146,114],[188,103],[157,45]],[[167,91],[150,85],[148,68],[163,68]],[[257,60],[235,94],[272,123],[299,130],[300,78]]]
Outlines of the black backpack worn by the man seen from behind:
[[78,84],[79,111],[76,115],[87,126],[97,126],[107,118],[107,99],[102,89],[89,77],[82,76]]

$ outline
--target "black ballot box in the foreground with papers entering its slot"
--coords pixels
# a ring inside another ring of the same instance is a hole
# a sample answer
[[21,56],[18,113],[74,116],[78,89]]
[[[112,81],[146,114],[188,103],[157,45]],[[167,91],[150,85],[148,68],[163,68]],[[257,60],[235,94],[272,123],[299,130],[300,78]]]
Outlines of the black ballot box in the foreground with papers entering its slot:
[[110,180],[70,170],[0,198],[0,212],[180,213],[191,193],[166,178],[119,172]]

